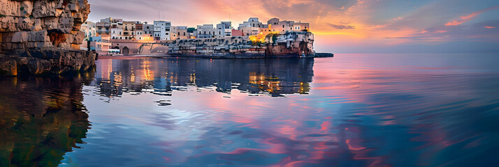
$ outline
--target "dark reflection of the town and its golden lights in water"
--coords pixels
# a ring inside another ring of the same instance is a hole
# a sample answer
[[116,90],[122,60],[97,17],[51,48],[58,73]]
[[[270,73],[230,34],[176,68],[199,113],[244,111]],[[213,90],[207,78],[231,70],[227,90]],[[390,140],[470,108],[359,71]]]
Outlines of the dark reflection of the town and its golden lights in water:
[[143,90],[168,92],[172,86],[215,86],[224,93],[238,89],[273,96],[307,94],[313,63],[313,59],[101,60],[97,65],[96,86],[106,97]]

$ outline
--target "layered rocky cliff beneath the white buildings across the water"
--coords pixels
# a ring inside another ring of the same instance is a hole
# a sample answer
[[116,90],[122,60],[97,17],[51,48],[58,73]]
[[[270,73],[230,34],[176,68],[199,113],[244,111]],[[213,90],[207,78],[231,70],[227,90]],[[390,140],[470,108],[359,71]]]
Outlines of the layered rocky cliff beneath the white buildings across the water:
[[[209,58],[314,57],[314,34],[289,32],[227,38],[172,40],[144,44],[140,54],[166,54]],[[332,54],[331,54],[332,56]]]

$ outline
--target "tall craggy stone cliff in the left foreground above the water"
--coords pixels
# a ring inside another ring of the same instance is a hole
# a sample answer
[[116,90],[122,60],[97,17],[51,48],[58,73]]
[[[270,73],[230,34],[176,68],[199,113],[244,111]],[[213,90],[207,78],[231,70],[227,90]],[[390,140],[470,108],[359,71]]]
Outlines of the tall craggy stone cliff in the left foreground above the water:
[[87,70],[95,55],[80,51],[87,0],[0,0],[0,74]]

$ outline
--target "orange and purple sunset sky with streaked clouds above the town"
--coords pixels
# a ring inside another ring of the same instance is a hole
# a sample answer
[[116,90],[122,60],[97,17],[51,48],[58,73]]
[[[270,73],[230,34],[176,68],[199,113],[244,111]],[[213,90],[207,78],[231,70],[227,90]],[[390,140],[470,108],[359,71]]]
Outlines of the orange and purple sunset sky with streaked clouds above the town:
[[317,51],[499,52],[498,0],[89,0],[104,17],[196,26],[249,17],[310,22]]

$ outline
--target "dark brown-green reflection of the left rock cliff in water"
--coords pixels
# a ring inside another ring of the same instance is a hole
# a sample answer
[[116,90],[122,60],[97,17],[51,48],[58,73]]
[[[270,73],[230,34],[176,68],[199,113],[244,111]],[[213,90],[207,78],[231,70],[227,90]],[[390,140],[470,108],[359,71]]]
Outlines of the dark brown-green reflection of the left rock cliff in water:
[[78,77],[0,78],[0,166],[59,166],[79,148],[90,123]]

